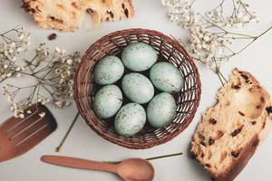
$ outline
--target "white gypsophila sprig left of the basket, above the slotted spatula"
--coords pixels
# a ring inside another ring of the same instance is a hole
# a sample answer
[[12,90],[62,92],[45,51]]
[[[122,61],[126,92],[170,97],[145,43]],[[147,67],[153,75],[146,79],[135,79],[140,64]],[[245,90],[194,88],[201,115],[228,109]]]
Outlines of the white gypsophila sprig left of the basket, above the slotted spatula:
[[[8,33],[14,31],[18,33],[16,40],[8,36]],[[34,57],[25,60],[22,59],[22,54],[27,51],[29,33],[24,33],[24,29],[20,28],[3,34],[5,38],[1,43],[3,52],[1,52],[0,82],[5,81],[2,90],[12,104],[11,110],[15,113],[15,117],[24,118],[24,110],[38,102],[53,103],[56,108],[69,106],[73,100],[73,77],[80,62],[80,53],[67,54],[58,47],[50,53],[42,43],[35,49]],[[19,55],[20,57],[17,57]],[[24,86],[11,83],[21,76],[30,78],[32,83]],[[19,99],[22,97],[23,99]],[[40,116],[43,114],[41,113]]]

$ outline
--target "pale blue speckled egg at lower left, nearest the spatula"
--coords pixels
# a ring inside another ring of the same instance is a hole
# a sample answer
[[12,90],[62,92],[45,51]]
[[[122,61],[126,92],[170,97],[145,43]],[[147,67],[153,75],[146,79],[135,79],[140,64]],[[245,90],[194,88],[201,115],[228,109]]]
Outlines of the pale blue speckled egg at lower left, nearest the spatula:
[[109,119],[121,108],[121,90],[116,85],[106,85],[98,90],[92,100],[95,114],[102,119]]

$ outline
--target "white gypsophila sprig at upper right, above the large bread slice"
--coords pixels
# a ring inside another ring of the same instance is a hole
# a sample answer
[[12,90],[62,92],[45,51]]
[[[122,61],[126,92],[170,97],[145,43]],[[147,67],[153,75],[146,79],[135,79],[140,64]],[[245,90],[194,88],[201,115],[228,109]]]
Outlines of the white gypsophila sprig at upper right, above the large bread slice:
[[[259,35],[236,33],[238,27],[257,22],[256,14],[244,0],[220,0],[213,9],[202,14],[193,8],[196,0],[161,0],[161,3],[167,7],[170,20],[189,31],[186,47],[190,55],[217,73],[223,62],[245,50],[272,28]],[[248,42],[234,50],[233,44],[240,40]]]

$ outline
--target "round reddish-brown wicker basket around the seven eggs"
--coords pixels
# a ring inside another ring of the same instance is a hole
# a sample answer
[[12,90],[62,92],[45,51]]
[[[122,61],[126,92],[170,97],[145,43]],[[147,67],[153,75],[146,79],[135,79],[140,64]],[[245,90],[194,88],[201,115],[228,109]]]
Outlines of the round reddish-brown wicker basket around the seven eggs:
[[[165,128],[152,129],[148,123],[140,133],[132,137],[119,136],[109,124],[96,117],[92,111],[92,96],[97,85],[92,81],[92,68],[105,55],[120,53],[129,43],[145,42],[151,44],[160,54],[160,58],[177,66],[185,78],[184,88],[176,93],[177,117]],[[110,33],[93,43],[85,52],[75,77],[75,100],[83,119],[102,138],[125,148],[151,148],[175,138],[189,126],[199,106],[200,80],[199,72],[179,43],[162,33],[145,30],[129,29]]]

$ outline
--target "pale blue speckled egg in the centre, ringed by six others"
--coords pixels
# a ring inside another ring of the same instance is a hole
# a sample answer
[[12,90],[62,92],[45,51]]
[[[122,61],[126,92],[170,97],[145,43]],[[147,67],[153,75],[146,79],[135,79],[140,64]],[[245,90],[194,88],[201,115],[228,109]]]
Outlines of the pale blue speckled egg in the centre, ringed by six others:
[[154,87],[151,81],[140,73],[126,74],[121,80],[124,94],[133,102],[144,104],[154,96]]

